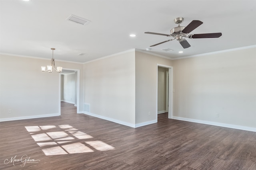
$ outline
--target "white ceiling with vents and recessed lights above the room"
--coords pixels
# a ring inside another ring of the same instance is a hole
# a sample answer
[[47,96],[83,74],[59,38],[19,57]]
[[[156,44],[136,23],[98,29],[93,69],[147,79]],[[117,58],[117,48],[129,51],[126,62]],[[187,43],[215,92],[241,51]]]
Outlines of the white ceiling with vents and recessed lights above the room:
[[[79,25],[70,14],[91,22]],[[222,32],[220,38],[176,40],[144,32],[170,34],[174,19],[182,26],[204,22],[191,33]],[[255,0],[0,0],[0,53],[84,63],[130,49],[171,58],[256,45]],[[130,37],[133,33],[136,37]],[[170,48],[166,52],[161,49]],[[178,53],[184,51],[184,53]],[[86,53],[79,56],[80,53]]]

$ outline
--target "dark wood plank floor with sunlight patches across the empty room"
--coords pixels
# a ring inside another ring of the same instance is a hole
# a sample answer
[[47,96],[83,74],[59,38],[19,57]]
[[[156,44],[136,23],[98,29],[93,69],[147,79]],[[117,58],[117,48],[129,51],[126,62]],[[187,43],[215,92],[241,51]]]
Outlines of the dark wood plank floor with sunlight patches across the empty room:
[[76,114],[64,102],[61,114],[1,122],[0,169],[256,170],[255,132],[168,119],[166,113],[134,129]]

